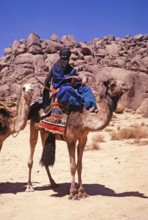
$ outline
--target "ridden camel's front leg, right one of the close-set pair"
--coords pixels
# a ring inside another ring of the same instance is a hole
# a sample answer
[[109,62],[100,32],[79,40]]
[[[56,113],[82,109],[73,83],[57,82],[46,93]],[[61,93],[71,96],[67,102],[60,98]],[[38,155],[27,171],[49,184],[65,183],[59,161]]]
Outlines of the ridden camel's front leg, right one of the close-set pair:
[[84,152],[84,147],[87,142],[87,137],[83,137],[82,139],[79,140],[78,148],[77,148],[77,173],[78,173],[78,184],[79,184],[79,189],[78,189],[78,197],[79,198],[86,198],[88,197],[88,194],[85,192],[84,187],[82,185],[82,157],[83,157],[83,152]]

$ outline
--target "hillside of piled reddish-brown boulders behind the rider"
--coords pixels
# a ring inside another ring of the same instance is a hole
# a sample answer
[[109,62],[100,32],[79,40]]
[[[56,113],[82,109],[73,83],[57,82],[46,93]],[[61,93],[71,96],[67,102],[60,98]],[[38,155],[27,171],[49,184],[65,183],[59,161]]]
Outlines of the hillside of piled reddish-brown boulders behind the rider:
[[4,49],[0,58],[0,101],[18,100],[22,84],[35,84],[33,99],[42,94],[44,82],[51,66],[59,58],[59,50],[70,47],[71,64],[79,74],[89,78],[89,84],[98,93],[102,81],[108,77],[124,80],[130,87],[121,104],[148,116],[148,34],[117,38],[105,36],[90,42],[77,42],[72,35],[61,39],[53,34],[42,40],[36,33],[27,39],[14,41]]

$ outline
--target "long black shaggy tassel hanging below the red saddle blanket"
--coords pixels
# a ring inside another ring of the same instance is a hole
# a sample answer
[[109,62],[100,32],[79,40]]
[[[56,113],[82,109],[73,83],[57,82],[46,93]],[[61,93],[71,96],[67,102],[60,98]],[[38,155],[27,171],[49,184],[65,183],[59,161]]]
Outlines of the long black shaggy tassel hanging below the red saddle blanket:
[[40,164],[42,166],[53,166],[55,162],[55,134],[49,134],[43,149]]

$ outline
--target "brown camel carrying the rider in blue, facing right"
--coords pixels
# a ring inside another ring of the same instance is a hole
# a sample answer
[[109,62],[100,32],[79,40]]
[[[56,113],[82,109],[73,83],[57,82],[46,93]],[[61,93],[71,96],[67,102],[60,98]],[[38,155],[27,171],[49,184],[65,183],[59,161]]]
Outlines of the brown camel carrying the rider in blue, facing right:
[[[128,86],[114,78],[110,78],[103,82],[103,90],[100,96],[99,111],[98,113],[90,113],[89,111],[83,110],[72,110],[69,114],[67,127],[65,134],[62,136],[61,140],[67,142],[69,159],[70,159],[70,172],[71,172],[71,186],[69,199],[79,199],[87,197],[87,193],[82,185],[82,156],[84,148],[87,142],[87,135],[89,132],[100,131],[108,126],[111,121],[113,112],[117,107],[117,103],[120,97],[128,91]],[[34,118],[36,115],[36,118]],[[28,161],[29,168],[29,178],[28,187],[26,191],[33,191],[31,182],[31,170],[33,167],[33,154],[35,151],[35,145],[38,139],[38,123],[40,122],[39,111],[35,111],[30,117],[30,155]],[[55,135],[56,139],[59,140],[59,135]],[[43,149],[48,146],[47,140],[49,140],[49,146],[51,147],[54,142],[54,134],[50,132],[41,131],[41,139]],[[76,149],[77,149],[77,161],[76,161]],[[44,150],[43,150],[44,152]],[[47,150],[48,152],[48,150]],[[46,158],[47,160],[47,158]],[[47,171],[48,178],[52,186],[56,186],[53,180],[48,165],[53,165],[53,162],[47,164],[45,163],[45,169]],[[75,174],[78,174],[78,189],[76,189]]]

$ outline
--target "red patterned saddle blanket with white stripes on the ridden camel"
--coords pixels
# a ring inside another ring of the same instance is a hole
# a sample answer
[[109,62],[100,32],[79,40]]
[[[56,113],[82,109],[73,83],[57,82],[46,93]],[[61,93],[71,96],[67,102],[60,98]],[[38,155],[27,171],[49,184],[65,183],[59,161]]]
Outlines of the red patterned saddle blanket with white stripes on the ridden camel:
[[39,129],[57,134],[64,134],[68,114],[63,113],[58,103],[53,103],[51,113],[42,119]]

